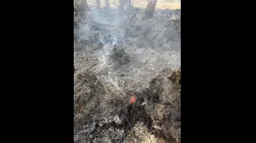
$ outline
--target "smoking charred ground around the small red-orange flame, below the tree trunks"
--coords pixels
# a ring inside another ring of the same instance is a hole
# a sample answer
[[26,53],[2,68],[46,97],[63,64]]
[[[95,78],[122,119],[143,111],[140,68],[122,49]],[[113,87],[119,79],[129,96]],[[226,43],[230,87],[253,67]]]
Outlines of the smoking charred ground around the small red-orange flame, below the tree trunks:
[[180,10],[143,17],[74,19],[74,142],[180,142]]

